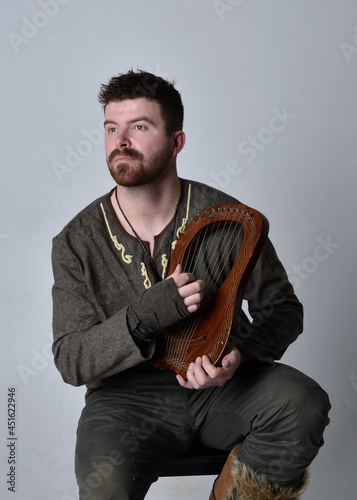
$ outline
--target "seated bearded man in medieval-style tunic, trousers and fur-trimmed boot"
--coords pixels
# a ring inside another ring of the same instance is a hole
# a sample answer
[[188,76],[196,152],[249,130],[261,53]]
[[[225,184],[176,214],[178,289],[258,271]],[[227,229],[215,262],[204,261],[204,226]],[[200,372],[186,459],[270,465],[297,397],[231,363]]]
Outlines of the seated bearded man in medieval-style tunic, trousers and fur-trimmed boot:
[[207,293],[204,266],[200,276],[180,265],[167,276],[175,243],[196,214],[238,201],[178,177],[185,134],[172,83],[129,71],[103,85],[99,101],[116,186],[53,241],[55,363],[66,382],[88,389],[80,499],[143,499],[196,442],[232,450],[211,498],[299,498],[329,401],[275,362],[302,331],[302,306],[271,242],[244,294],[252,323],[242,317],[221,365],[198,357],[185,377],[156,368],[155,334],[197,313]]

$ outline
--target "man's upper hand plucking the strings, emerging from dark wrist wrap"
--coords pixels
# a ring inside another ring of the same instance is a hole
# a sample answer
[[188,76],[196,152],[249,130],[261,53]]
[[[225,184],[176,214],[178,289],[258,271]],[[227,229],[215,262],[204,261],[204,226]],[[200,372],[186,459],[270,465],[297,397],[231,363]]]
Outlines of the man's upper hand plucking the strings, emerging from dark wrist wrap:
[[198,310],[201,304],[204,283],[196,280],[192,273],[184,273],[181,264],[178,264],[175,271],[167,277],[172,278],[177,287],[177,291],[187,307],[188,312],[193,313]]

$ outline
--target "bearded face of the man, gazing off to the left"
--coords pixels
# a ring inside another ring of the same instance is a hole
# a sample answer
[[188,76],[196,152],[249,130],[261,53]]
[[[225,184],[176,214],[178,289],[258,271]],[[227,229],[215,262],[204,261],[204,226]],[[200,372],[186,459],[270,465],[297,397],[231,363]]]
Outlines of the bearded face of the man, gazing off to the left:
[[107,163],[117,184],[149,184],[169,167],[174,139],[166,133],[156,101],[140,97],[109,102],[104,129]]

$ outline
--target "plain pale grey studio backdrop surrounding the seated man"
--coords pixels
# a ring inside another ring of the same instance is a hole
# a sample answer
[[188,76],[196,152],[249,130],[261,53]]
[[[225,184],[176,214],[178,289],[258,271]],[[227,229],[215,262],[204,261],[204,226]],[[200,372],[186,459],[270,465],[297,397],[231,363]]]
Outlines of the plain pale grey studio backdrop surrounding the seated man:
[[[284,362],[332,402],[304,499],[353,500],[357,3],[1,0],[0,26],[1,499],[78,498],[85,390],[66,385],[52,361],[51,239],[113,186],[96,95],[139,67],[182,92],[180,175],[270,220],[305,306],[305,331]],[[213,479],[161,479],[147,498],[202,500]]]

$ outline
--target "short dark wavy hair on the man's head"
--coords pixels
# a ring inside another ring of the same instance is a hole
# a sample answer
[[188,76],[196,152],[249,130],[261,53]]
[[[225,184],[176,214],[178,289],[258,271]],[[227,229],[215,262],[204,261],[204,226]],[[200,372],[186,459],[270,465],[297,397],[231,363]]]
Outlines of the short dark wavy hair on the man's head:
[[184,107],[174,81],[170,82],[147,71],[129,70],[113,76],[107,84],[102,84],[98,93],[98,101],[104,110],[111,101],[138,97],[146,97],[160,104],[168,134],[182,130]]

